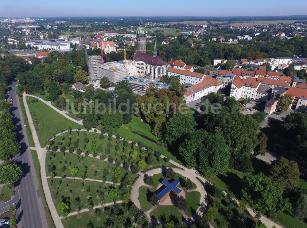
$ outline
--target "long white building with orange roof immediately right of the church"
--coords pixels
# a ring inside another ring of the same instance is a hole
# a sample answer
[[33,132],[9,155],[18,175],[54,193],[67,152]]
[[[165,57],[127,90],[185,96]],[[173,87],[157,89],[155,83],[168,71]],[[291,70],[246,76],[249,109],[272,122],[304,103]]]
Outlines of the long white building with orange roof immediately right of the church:
[[180,83],[186,84],[190,83],[192,85],[196,85],[203,81],[203,79],[206,77],[205,74],[191,72],[188,70],[180,70],[173,67],[170,67],[167,71],[168,76],[179,76],[180,77]]

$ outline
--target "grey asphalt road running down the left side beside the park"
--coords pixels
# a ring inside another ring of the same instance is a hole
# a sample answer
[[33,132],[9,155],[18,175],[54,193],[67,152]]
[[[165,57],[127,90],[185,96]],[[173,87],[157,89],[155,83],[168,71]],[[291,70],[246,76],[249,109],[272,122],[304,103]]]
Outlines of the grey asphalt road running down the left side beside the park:
[[29,141],[25,131],[25,123],[21,113],[18,95],[15,93],[17,81],[9,88],[9,98],[13,99],[11,114],[17,126],[17,141],[21,144],[21,152],[15,156],[16,163],[21,165],[24,172],[15,192],[16,220],[18,228],[47,228],[48,223],[44,211],[41,192],[34,169]]

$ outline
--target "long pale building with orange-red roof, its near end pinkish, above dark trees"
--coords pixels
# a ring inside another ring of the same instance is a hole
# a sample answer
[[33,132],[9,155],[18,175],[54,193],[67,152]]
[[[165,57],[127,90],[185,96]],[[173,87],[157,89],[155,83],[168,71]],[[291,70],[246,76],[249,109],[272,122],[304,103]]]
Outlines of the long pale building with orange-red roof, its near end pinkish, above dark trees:
[[223,87],[221,83],[216,78],[205,77],[202,82],[195,84],[187,88],[187,92],[184,95],[184,100],[186,103],[190,103],[196,99],[200,99],[208,93],[217,92]]

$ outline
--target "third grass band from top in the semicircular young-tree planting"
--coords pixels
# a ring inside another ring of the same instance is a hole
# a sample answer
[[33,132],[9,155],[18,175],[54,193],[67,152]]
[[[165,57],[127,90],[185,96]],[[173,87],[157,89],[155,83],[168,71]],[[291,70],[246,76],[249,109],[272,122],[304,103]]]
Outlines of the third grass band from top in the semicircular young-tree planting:
[[[50,187],[51,178],[48,178],[47,180],[48,180],[51,197],[52,197],[53,203],[56,206],[56,208],[57,208],[57,205],[62,201],[69,202],[71,206],[70,212],[76,211],[73,201],[75,200],[77,196],[80,197],[81,205],[83,206],[83,209],[84,209],[84,208],[88,208],[89,199],[93,200],[94,206],[100,204],[99,199],[96,199],[96,196],[97,196],[96,192],[99,189],[99,186],[101,186],[106,192],[108,191],[109,187],[111,188],[114,187],[114,185],[112,184],[106,184],[105,186],[105,184],[101,182],[85,181],[84,183],[83,180],[74,181],[73,179],[65,179],[62,183],[60,183],[60,181],[62,180],[60,178],[55,178],[52,187]],[[83,187],[84,191],[81,191],[82,183],[84,183],[84,187]],[[58,190],[57,200],[55,200],[56,189],[58,186],[59,186],[59,190]],[[90,187],[90,192],[87,192],[88,187]],[[71,197],[68,196],[69,193],[67,189],[68,190],[72,189]],[[116,189],[118,189],[118,186],[116,187]],[[112,200],[110,199],[110,197],[108,197],[108,195],[105,195],[104,199],[105,199],[105,203],[112,202]]]

